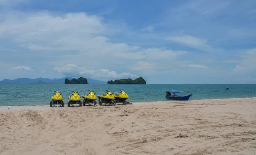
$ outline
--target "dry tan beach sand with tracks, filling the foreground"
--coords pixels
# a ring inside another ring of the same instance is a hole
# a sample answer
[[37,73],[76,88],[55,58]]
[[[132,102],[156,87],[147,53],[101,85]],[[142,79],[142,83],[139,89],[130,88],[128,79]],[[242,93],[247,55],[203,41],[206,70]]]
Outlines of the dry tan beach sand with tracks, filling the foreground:
[[0,107],[1,155],[255,155],[256,98]]

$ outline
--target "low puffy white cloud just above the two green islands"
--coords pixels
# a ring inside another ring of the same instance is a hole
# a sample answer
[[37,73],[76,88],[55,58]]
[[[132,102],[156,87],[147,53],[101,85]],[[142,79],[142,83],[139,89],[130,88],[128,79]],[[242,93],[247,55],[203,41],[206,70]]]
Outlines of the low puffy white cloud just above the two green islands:
[[79,67],[74,64],[67,64],[61,68],[55,67],[55,71],[62,73],[66,76],[86,76],[91,78],[137,78],[137,75],[131,73],[116,73],[107,69],[88,70],[84,67]]

